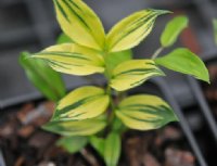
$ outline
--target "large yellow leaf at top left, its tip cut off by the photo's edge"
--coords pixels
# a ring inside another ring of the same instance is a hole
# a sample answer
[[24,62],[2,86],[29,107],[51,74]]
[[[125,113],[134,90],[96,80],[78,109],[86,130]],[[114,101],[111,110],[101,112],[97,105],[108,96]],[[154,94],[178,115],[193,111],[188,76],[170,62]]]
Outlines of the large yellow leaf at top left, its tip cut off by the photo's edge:
[[59,24],[73,41],[102,50],[105,34],[97,14],[82,0],[53,0]]

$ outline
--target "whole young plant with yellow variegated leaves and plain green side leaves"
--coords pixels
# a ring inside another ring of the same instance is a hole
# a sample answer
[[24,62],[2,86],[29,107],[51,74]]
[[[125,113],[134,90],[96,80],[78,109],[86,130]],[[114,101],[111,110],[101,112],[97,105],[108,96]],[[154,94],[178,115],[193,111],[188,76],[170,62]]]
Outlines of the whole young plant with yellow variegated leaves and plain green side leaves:
[[[186,48],[157,58],[187,27],[186,16],[175,17],[167,24],[161,37],[162,46],[152,58],[135,60],[130,49],[145,39],[159,15],[170,12],[142,10],[122,20],[105,34],[100,18],[81,0],[53,1],[65,34],[61,44],[35,53],[26,61],[43,60],[56,72],[77,76],[99,73],[105,76],[107,84],[105,88],[85,86],[69,92],[59,101],[43,129],[64,136],[58,144],[68,152],[75,153],[90,143],[107,166],[116,166],[122,151],[120,136],[127,128],[157,129],[178,120],[161,98],[127,97],[126,91],[152,77],[165,76],[159,66],[207,82],[208,72],[199,56]],[[49,74],[44,77],[52,86],[56,84]]]

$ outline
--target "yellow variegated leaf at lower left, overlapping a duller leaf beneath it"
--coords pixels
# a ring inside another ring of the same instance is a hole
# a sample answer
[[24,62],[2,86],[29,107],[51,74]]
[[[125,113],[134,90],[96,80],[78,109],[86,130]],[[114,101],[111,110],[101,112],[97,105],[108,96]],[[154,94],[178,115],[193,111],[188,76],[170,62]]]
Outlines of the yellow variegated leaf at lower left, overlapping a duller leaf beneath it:
[[108,95],[98,87],[78,88],[63,98],[52,120],[78,120],[97,117],[102,114],[110,102]]

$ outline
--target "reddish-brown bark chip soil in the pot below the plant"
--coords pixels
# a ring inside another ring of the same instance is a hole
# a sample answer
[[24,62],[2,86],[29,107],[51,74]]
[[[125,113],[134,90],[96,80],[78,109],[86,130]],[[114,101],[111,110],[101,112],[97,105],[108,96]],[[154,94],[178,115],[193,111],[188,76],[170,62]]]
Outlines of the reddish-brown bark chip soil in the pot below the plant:
[[[55,145],[59,136],[40,126],[52,115],[54,104],[27,103],[13,108],[0,119],[0,149],[7,166],[103,166],[93,149],[68,154]],[[168,125],[153,131],[128,131],[123,136],[123,152],[118,166],[194,166],[191,153],[179,127]]]

